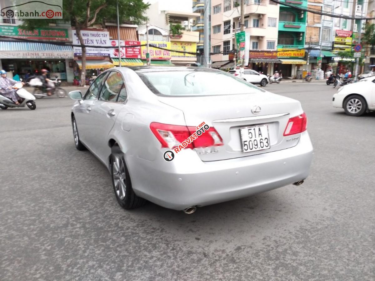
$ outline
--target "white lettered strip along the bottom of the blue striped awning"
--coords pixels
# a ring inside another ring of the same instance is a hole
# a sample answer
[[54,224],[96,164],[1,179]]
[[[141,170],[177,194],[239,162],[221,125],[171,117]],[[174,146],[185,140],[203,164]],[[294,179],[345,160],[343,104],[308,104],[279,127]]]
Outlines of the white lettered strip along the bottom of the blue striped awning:
[[0,58],[73,58],[73,53],[64,51],[1,51]]

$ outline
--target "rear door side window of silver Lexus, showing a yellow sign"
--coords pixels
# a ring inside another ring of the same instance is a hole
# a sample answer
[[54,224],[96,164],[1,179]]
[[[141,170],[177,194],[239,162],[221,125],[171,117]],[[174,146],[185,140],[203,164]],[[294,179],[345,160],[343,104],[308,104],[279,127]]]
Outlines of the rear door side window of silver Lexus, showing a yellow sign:
[[[104,82],[102,87],[101,94],[99,96],[99,100],[106,100],[109,102],[116,102],[117,97],[119,96],[122,88],[124,87],[124,81],[122,79],[121,73],[117,71],[112,71],[108,75],[107,79]],[[121,92],[121,99],[126,99],[126,91]]]

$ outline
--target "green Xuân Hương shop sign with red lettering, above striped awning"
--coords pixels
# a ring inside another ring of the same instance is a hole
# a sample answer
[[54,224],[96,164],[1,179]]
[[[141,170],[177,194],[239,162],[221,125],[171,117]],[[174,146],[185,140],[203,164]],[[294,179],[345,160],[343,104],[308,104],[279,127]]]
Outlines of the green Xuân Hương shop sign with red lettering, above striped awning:
[[67,28],[34,28],[25,30],[14,25],[0,25],[0,35],[22,39],[69,41]]

